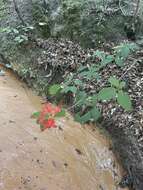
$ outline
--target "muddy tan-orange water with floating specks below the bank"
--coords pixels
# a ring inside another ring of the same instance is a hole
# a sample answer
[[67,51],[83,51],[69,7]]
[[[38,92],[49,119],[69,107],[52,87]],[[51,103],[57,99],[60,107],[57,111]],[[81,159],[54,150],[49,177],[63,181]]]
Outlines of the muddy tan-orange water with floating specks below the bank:
[[120,190],[110,141],[71,117],[40,132],[41,100],[12,74],[0,76],[0,190]]

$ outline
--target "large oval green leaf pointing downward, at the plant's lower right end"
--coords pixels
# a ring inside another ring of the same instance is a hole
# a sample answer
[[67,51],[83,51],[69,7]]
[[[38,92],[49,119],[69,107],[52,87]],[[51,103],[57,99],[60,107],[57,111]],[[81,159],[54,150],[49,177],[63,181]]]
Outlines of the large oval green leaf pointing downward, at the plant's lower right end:
[[126,111],[130,111],[132,109],[132,103],[129,95],[126,92],[119,91],[117,102],[121,105]]

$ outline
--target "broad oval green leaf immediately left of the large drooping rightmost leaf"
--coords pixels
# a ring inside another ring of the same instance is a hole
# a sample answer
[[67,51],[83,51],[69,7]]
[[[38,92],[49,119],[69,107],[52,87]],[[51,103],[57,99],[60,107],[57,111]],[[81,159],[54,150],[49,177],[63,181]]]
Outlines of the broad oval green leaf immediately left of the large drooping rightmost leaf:
[[113,87],[103,88],[98,93],[99,100],[111,100],[116,97],[116,90]]

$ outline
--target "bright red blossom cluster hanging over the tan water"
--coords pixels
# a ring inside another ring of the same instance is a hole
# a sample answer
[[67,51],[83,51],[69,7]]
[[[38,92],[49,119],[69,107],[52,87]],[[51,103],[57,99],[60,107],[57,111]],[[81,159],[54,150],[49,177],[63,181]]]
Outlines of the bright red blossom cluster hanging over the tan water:
[[47,128],[55,128],[56,122],[55,117],[58,113],[61,112],[61,108],[54,106],[50,103],[44,104],[42,111],[37,112],[37,123],[40,124],[41,131],[44,131]]

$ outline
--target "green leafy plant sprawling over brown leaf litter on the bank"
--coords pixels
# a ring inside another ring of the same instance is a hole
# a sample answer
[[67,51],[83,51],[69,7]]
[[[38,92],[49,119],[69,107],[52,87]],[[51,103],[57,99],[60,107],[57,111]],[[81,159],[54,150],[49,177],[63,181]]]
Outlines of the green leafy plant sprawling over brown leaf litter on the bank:
[[133,43],[125,43],[115,47],[110,54],[104,51],[95,51],[89,56],[92,64],[81,64],[76,72],[67,73],[63,83],[54,84],[49,88],[49,95],[71,96],[75,120],[82,124],[97,121],[101,117],[98,104],[102,104],[102,102],[114,101],[126,111],[131,111],[132,102],[126,92],[127,85],[122,77],[111,75],[106,80],[104,87],[96,89],[94,86],[102,80],[102,72],[109,64],[119,68],[124,67],[124,62],[129,54],[137,48]]

